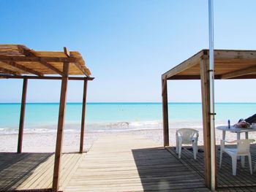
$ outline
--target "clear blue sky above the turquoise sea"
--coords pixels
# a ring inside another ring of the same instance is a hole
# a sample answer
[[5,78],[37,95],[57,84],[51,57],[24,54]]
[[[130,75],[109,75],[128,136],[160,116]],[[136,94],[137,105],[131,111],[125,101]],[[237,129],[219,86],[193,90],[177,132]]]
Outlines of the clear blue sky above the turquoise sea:
[[[254,0],[214,0],[214,47],[256,50]],[[78,50],[95,80],[88,101],[161,101],[161,74],[208,48],[208,1],[0,1],[0,43]],[[69,82],[67,101],[81,101]],[[215,82],[215,101],[256,101],[255,80]],[[19,102],[21,80],[0,80]],[[199,101],[199,81],[169,82],[169,101]],[[28,101],[59,101],[60,82],[30,80]]]

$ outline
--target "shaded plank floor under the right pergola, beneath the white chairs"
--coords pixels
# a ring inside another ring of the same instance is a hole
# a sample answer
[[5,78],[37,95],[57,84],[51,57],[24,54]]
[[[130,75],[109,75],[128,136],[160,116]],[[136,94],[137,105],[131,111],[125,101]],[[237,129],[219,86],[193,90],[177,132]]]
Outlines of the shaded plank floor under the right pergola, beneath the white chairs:
[[[230,145],[231,146],[231,145]],[[197,160],[194,160],[191,147],[184,147],[181,153],[182,164],[193,169],[204,178],[204,157],[203,153],[197,153]],[[189,150],[188,150],[189,149]],[[203,149],[200,146],[200,149]],[[167,147],[173,158],[177,158],[175,147]],[[255,166],[256,145],[251,145],[252,168]],[[232,175],[231,158],[227,153],[223,153],[222,168],[219,169],[219,146],[217,146],[217,186],[218,191],[256,191],[256,173],[249,173],[248,160],[245,160],[245,168],[241,168],[241,161],[238,160],[237,175]]]

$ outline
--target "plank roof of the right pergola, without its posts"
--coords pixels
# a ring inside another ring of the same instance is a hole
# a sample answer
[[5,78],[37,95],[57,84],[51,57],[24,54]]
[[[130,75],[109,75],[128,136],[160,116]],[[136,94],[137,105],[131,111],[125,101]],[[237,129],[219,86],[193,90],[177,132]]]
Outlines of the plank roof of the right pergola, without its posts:
[[[197,54],[162,74],[162,80],[200,79],[200,60],[208,59],[208,50]],[[255,77],[256,50],[214,50],[214,76],[216,79],[246,79]]]

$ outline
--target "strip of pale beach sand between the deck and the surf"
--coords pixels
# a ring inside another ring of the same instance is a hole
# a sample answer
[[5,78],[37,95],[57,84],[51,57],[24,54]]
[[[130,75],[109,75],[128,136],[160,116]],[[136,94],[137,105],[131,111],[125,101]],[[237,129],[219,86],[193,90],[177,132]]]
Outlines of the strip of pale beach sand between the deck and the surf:
[[[199,131],[198,145],[203,145],[203,129],[196,128]],[[85,133],[84,139],[84,151],[88,151],[93,145],[94,141],[99,137],[105,135],[116,135],[116,134],[139,134],[140,136],[154,140],[159,146],[163,145],[162,129],[148,129],[138,131],[119,131],[119,132],[89,132]],[[170,128],[170,146],[176,145],[176,129]],[[244,133],[241,134],[243,139]],[[219,145],[219,140],[222,139],[222,131],[216,130],[216,143]],[[256,139],[256,132],[249,133],[249,139]],[[226,133],[226,140],[236,140],[235,133]],[[16,152],[18,134],[5,134],[0,135],[0,152]],[[78,132],[65,132],[63,140],[63,152],[75,152],[79,150],[80,145],[80,134]],[[124,141],[125,142],[125,141]],[[56,133],[34,133],[23,135],[23,152],[54,152],[56,145]]]

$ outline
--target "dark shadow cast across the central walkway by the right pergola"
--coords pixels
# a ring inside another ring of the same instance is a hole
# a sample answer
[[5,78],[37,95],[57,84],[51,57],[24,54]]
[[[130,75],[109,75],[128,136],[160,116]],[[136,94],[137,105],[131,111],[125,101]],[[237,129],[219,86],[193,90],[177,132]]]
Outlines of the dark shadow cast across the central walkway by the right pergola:
[[203,177],[163,147],[136,149],[132,154],[144,191],[208,191]]

